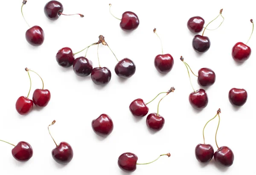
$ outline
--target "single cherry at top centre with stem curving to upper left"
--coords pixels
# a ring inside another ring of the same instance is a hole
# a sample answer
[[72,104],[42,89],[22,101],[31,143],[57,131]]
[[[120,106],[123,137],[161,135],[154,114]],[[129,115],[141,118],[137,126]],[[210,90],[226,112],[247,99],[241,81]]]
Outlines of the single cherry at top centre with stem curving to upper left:
[[[112,5],[109,4],[109,12],[113,17],[115,17],[111,13],[111,6]],[[122,14],[122,19],[119,19],[117,17],[115,17],[115,18],[118,20],[121,20],[120,27],[122,30],[124,30],[126,32],[130,32],[130,31],[137,29],[140,24],[140,20],[139,20],[137,14],[135,14],[134,12],[131,12],[131,11],[125,11]]]

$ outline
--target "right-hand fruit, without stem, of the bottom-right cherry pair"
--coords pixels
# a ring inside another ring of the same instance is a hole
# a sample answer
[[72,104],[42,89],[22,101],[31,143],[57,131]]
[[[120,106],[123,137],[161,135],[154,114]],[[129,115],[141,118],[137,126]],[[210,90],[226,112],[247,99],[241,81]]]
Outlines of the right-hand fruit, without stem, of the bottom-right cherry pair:
[[214,153],[214,160],[221,166],[229,167],[234,161],[233,151],[227,146],[221,146]]

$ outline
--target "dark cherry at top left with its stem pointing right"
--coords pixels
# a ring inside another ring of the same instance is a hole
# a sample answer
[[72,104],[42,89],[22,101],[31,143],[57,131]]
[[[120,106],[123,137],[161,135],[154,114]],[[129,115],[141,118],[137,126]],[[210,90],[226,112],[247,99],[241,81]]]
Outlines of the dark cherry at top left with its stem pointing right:
[[[63,12],[63,5],[56,0],[51,0],[44,6],[44,14],[50,20],[57,20],[61,16],[61,14],[66,16],[76,15],[76,14],[63,14],[62,12]],[[78,14],[78,15],[80,15],[80,17],[84,17],[83,14]]]

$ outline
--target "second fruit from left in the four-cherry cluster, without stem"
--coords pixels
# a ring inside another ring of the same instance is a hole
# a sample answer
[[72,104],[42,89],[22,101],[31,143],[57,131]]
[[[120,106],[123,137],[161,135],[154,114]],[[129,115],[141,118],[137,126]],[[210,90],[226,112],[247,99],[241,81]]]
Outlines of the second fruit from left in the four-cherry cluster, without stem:
[[73,62],[73,70],[78,76],[88,76],[93,70],[93,63],[86,57],[78,57]]

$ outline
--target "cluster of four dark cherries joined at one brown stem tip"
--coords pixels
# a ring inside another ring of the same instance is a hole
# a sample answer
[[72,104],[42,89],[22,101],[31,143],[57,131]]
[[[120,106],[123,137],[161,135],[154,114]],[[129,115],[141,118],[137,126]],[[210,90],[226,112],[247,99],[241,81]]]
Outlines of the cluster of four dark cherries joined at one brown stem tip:
[[[102,43],[104,46],[108,46],[108,44],[105,42],[105,37],[102,35],[99,36],[99,41],[97,43],[93,43],[90,46],[98,45],[97,48],[97,55],[98,55],[98,62],[99,62],[99,44]],[[93,80],[93,83],[96,85],[105,85],[109,83],[111,80],[111,71],[107,67],[101,67],[99,63],[99,67],[93,68],[93,63],[86,58],[87,51],[90,46],[87,46],[83,50],[76,52],[73,54],[72,49],[69,47],[64,47],[60,49],[56,55],[56,60],[58,64],[62,67],[70,67],[73,65],[73,70],[76,73],[76,75],[85,77],[88,75],[91,75],[91,79]],[[111,50],[111,48],[108,46],[108,48]],[[75,59],[74,55],[84,51],[87,49],[85,57],[78,57]],[[113,51],[111,50],[113,53]],[[113,55],[116,57],[116,55],[113,53]],[[124,58],[122,60],[117,60],[117,64],[115,66],[115,72],[116,75],[122,78],[129,78],[132,75],[134,75],[136,71],[136,66],[134,62],[128,58]]]

